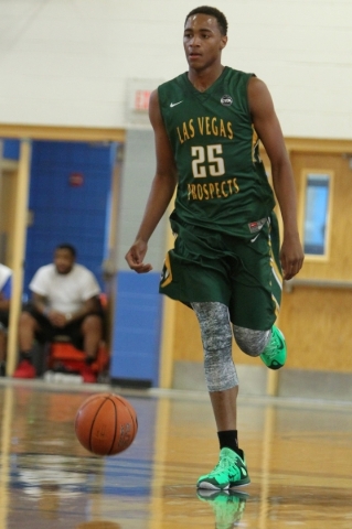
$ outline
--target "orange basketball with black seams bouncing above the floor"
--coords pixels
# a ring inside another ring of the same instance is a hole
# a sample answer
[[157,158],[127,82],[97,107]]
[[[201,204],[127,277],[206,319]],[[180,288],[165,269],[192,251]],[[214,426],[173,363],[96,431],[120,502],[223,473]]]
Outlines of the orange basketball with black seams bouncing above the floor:
[[75,419],[76,436],[86,450],[97,455],[114,455],[128,449],[138,430],[131,403],[114,393],[88,397]]

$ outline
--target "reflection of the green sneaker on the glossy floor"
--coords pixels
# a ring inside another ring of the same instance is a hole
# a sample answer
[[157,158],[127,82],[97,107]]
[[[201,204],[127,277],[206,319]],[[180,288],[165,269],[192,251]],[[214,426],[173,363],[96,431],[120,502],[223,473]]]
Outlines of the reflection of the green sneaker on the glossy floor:
[[233,490],[204,490],[196,493],[201,501],[209,504],[215,515],[216,529],[231,529],[236,527],[246,507],[247,494]]

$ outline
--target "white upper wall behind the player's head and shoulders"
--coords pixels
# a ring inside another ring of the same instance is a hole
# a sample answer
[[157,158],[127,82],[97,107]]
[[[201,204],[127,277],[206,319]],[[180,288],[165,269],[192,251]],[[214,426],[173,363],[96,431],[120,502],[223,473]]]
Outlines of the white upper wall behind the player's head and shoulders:
[[[285,136],[352,138],[352,0],[218,0],[223,64],[255,72]],[[127,80],[171,78],[189,0],[0,0],[0,123],[124,127]]]

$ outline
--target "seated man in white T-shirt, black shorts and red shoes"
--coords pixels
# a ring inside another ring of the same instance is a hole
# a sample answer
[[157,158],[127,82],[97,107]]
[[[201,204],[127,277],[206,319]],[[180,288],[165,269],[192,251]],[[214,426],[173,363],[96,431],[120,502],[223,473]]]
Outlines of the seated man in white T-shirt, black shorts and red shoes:
[[14,378],[35,378],[33,342],[51,342],[67,335],[75,347],[86,353],[86,368],[81,374],[85,382],[95,382],[92,369],[103,337],[100,288],[94,274],[77,264],[76,250],[71,245],[55,249],[54,262],[41,267],[30,290],[32,301],[23,309],[19,323],[20,363]]

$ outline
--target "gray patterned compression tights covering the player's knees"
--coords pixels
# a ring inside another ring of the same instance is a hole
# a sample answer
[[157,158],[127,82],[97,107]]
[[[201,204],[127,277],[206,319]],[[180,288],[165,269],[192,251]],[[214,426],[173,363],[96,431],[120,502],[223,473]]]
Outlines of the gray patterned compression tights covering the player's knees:
[[[194,302],[204,349],[204,370],[209,391],[224,391],[238,386],[232,358],[232,328],[228,309],[217,302]],[[233,326],[238,347],[249,356],[259,356],[271,336],[269,331]]]

